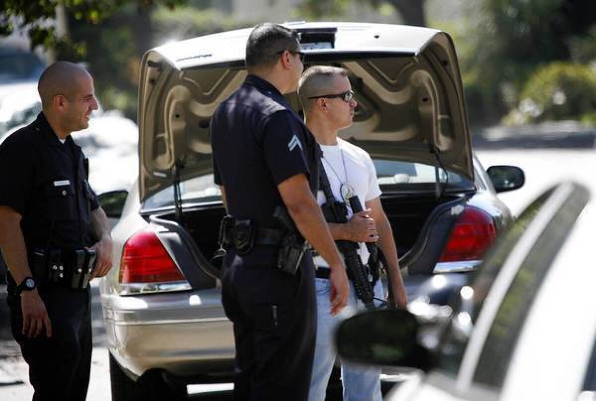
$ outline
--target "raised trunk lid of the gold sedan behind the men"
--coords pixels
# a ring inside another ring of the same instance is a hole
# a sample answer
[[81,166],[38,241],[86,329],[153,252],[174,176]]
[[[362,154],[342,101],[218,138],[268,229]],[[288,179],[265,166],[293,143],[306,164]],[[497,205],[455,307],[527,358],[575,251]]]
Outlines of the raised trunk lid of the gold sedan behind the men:
[[[464,94],[450,36],[424,27],[293,23],[306,66],[349,69],[358,102],[342,138],[373,158],[442,165],[473,181]],[[212,171],[209,120],[246,77],[251,29],[146,52],[139,82],[139,191],[156,192]],[[300,110],[296,94],[288,101]]]

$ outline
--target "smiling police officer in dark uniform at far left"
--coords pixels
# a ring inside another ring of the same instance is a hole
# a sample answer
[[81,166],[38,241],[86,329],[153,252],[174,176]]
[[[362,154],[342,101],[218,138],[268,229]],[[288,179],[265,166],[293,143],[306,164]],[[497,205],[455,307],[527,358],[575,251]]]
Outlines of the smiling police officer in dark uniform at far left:
[[33,400],[85,400],[91,371],[88,282],[111,268],[105,213],[70,133],[98,105],[85,69],[58,61],[39,79],[42,112],[0,145],[0,247],[11,328]]

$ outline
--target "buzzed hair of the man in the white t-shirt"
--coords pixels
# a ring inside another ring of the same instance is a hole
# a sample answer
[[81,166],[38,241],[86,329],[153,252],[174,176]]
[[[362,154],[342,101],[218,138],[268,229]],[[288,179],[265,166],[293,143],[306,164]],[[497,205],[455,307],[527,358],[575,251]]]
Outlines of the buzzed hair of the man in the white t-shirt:
[[349,77],[349,70],[332,66],[313,66],[306,70],[298,83],[298,96],[305,111],[311,108],[313,96],[328,94],[336,76]]

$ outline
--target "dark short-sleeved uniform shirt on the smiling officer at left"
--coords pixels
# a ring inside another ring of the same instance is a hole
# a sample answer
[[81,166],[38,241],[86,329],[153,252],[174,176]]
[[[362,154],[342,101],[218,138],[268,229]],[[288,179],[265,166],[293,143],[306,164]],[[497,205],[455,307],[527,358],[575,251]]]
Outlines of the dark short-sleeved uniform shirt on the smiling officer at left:
[[98,201],[85,163],[71,136],[61,143],[43,113],[0,145],[0,205],[21,215],[29,250],[92,245],[89,222]]

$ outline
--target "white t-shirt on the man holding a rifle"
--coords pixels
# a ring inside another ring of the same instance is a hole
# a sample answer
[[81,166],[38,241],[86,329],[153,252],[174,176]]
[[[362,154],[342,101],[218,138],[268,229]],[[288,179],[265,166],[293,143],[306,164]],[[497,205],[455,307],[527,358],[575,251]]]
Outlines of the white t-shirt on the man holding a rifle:
[[[350,184],[362,204],[381,195],[381,188],[378,186],[377,171],[374,168],[370,155],[361,148],[350,144],[350,142],[337,138],[337,145],[321,145],[323,151],[322,164],[325,167],[331,192],[337,201],[343,201],[340,194],[340,186],[347,182]],[[342,161],[343,154],[343,161]],[[346,166],[344,170],[344,164]],[[319,189],[316,194],[316,201],[319,206],[325,203],[325,194]],[[347,219],[352,217],[352,208],[347,205]],[[358,252],[362,263],[368,262],[368,250],[364,243],[360,244]],[[316,266],[329,266],[321,256],[315,257]]]

